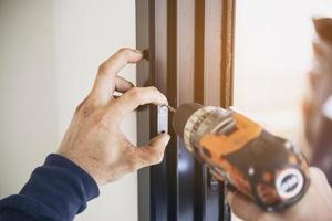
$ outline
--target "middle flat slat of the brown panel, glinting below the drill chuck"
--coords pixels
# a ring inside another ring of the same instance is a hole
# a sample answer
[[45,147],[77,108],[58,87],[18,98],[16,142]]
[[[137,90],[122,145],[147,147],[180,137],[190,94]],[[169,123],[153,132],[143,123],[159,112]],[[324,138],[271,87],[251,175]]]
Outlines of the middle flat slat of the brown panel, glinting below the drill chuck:
[[[176,6],[177,105],[194,102],[195,1],[177,1]],[[178,220],[195,217],[195,159],[178,140]]]

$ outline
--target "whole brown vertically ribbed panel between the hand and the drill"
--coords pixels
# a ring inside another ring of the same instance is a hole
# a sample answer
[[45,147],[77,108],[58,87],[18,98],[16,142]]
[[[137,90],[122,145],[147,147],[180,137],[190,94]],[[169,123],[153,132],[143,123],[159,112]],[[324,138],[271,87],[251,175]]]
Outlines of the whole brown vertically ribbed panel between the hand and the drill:
[[[227,107],[232,98],[235,0],[137,0],[138,86],[155,85],[172,106]],[[156,108],[138,110],[138,144],[156,135]],[[170,125],[170,124],[169,124]],[[138,172],[141,221],[229,220],[224,186],[195,160],[169,127],[164,161]]]

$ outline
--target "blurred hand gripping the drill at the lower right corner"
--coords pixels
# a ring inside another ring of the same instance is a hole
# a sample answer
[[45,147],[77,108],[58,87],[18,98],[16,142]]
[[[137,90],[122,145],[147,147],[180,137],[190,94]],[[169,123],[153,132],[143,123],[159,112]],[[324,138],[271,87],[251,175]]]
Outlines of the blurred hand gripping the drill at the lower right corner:
[[311,185],[305,196],[280,212],[266,212],[240,192],[228,193],[228,202],[236,215],[246,221],[332,220],[332,191],[325,175],[310,168]]

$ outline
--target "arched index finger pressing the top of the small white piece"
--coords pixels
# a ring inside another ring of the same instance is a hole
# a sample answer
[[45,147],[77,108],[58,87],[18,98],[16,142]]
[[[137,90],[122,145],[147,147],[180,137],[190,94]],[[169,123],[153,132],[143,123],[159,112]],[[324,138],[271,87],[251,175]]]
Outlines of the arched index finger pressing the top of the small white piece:
[[120,123],[127,114],[132,113],[139,105],[155,104],[168,105],[168,101],[156,87],[134,87],[118,97],[110,106],[110,115],[115,115]]

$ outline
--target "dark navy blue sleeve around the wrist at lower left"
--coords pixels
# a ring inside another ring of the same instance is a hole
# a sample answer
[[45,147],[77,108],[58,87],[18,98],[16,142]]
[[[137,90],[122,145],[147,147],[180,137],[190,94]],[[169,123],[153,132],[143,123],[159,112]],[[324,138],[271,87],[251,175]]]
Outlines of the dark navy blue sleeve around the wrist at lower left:
[[0,221],[73,220],[98,196],[94,179],[71,160],[48,156],[19,194],[0,201]]

